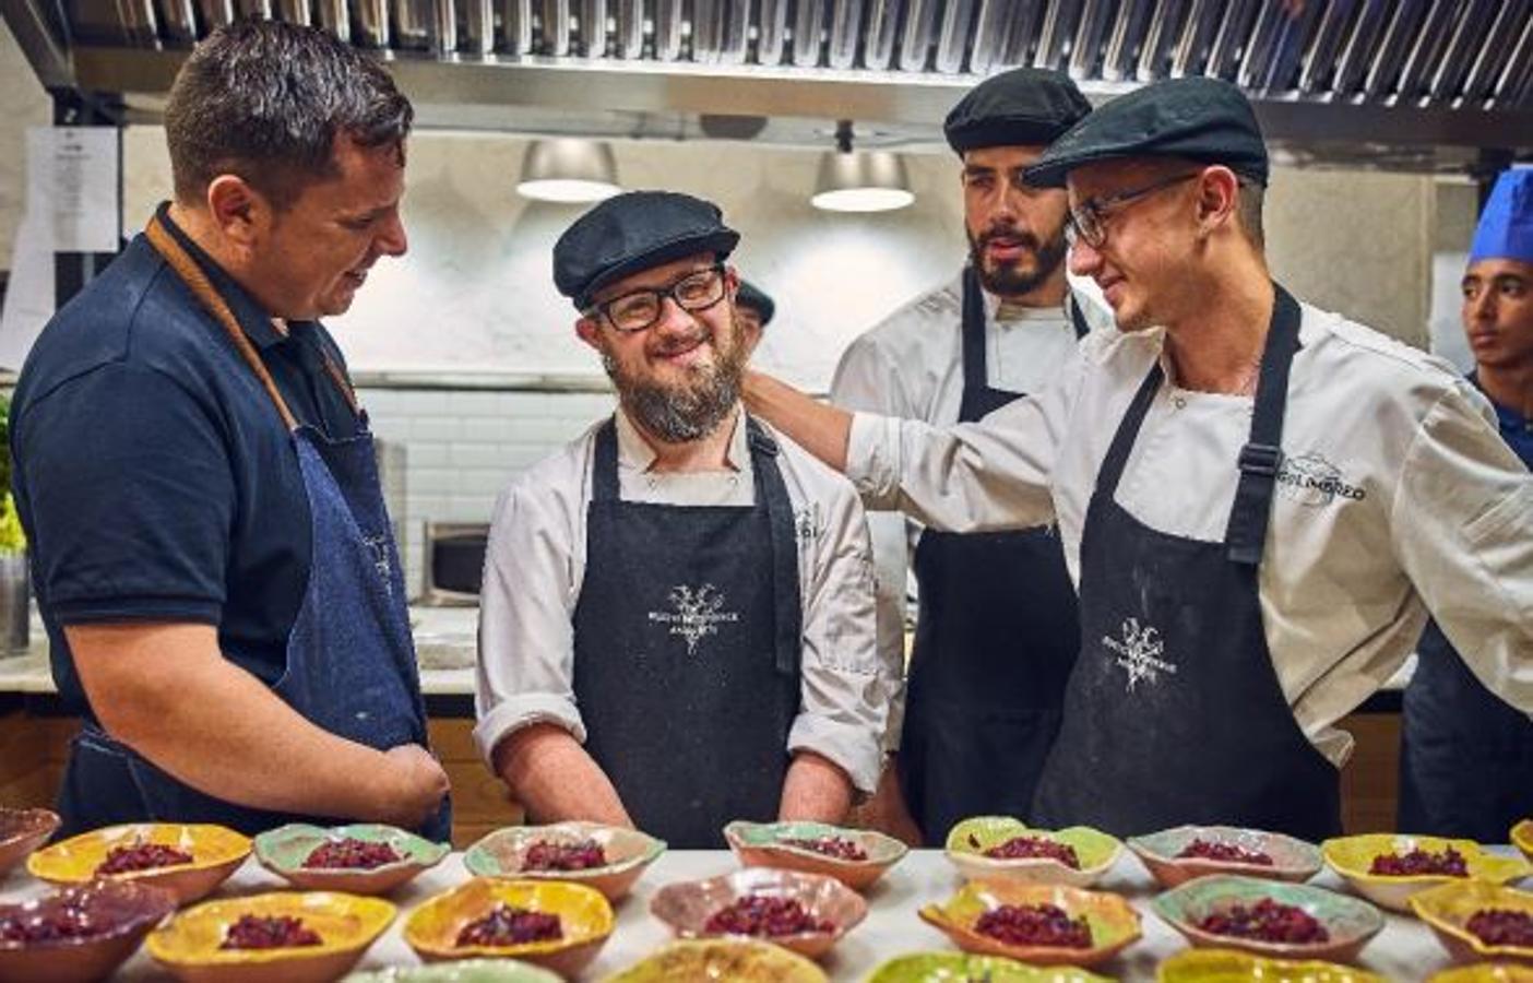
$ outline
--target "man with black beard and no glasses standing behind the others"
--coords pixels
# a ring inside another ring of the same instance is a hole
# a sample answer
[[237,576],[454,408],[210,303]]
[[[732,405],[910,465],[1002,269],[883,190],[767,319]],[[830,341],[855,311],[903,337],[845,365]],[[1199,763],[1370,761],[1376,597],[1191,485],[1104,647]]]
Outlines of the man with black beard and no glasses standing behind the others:
[[[852,342],[832,402],[952,425],[1055,377],[1087,325],[1065,282],[1064,192],[1029,186],[1023,169],[1088,112],[1069,75],[1032,67],[980,83],[952,109],[944,132],[963,163],[969,264]],[[929,847],[966,816],[1026,819],[1079,647],[1058,537],[923,531],[892,512],[869,521],[886,658],[904,652],[908,557],[918,616],[892,767],[863,819]]]

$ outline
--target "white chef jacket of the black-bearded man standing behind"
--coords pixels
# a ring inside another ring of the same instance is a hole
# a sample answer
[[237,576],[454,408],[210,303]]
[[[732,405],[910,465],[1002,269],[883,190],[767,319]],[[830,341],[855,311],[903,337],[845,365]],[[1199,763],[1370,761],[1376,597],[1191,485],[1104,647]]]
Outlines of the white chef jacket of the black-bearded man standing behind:
[[[1111,316],[1079,301],[1091,325]],[[1069,301],[1067,301],[1069,304]],[[1075,354],[1069,310],[1006,305],[984,293],[986,382],[1009,393],[1038,393]],[[958,422],[963,403],[963,273],[918,296],[852,340],[831,383],[831,402],[938,426]],[[878,650],[904,659],[908,564],[921,523],[898,512],[868,512],[878,590]],[[898,748],[904,721],[903,679],[891,695],[888,748]]]

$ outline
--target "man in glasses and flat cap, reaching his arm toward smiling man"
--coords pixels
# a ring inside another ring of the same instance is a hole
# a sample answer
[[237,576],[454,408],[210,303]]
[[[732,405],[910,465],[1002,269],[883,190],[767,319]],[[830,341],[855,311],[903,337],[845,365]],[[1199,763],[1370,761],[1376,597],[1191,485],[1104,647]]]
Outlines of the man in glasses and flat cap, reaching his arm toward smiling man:
[[957,532],[1059,524],[1081,655],[1036,825],[1340,833],[1335,722],[1429,610],[1533,710],[1533,478],[1446,363],[1272,282],[1266,178],[1234,86],[1122,95],[1026,172],[1067,187],[1070,270],[1118,322],[1053,385],[937,428],[747,377],[753,411],[874,508]]

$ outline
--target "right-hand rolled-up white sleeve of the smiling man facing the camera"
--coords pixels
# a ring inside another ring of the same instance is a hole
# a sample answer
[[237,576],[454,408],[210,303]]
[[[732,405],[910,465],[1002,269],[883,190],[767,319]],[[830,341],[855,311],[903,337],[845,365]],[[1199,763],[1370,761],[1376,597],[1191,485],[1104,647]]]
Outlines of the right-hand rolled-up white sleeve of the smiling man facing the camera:
[[881,741],[897,664],[880,658],[874,629],[868,526],[851,488],[816,503],[803,610],[802,702],[788,751],[814,751],[840,767],[866,794],[878,787]]

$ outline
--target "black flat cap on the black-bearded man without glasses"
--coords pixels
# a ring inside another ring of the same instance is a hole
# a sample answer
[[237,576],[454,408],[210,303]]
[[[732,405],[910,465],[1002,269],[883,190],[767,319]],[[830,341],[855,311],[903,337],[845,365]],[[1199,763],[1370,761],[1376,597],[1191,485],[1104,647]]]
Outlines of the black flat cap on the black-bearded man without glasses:
[[980,147],[1050,144],[1091,112],[1064,72],[1021,67],[986,78],[947,113],[943,133],[954,153]]

